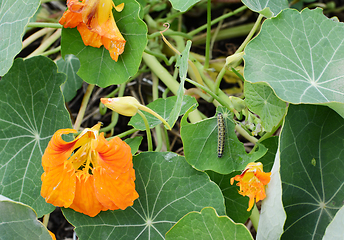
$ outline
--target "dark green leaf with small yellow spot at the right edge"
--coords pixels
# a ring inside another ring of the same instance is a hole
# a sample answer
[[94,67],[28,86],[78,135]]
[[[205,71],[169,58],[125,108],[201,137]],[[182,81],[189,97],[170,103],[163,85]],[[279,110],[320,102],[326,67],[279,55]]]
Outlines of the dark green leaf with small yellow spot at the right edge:
[[317,105],[290,105],[280,136],[282,239],[321,239],[343,206],[344,119]]

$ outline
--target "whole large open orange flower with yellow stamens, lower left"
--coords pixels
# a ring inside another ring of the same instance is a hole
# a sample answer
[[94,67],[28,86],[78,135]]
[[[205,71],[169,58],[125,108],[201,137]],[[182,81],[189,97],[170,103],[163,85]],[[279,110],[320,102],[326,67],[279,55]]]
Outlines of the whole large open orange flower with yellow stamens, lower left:
[[138,198],[129,145],[120,138],[99,135],[101,123],[86,128],[71,142],[60,129],[42,157],[41,195],[46,202],[72,208],[91,217],[100,211],[125,209]]

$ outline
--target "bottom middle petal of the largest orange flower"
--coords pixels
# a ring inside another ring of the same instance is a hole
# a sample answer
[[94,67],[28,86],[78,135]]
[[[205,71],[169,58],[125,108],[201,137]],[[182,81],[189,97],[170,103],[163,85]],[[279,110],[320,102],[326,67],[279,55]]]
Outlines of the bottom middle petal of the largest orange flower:
[[90,217],[96,216],[102,210],[107,210],[95,196],[93,176],[86,179],[81,176],[76,179],[75,198],[69,207]]

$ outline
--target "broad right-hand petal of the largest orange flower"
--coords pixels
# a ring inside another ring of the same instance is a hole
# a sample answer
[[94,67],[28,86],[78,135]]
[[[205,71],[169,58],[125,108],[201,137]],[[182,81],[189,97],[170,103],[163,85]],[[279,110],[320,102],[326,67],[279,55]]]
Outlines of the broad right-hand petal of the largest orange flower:
[[125,209],[138,198],[135,170],[129,145],[115,137],[107,142],[102,135],[96,149],[99,166],[94,170],[96,196],[110,210]]

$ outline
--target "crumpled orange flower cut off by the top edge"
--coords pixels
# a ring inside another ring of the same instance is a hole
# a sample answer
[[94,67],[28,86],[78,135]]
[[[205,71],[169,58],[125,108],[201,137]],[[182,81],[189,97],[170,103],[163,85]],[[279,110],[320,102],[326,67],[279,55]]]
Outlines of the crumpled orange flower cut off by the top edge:
[[65,28],[77,27],[86,46],[99,48],[104,45],[117,62],[126,41],[117,28],[112,7],[120,12],[124,3],[115,6],[112,0],[68,0],[67,6],[59,23]]

